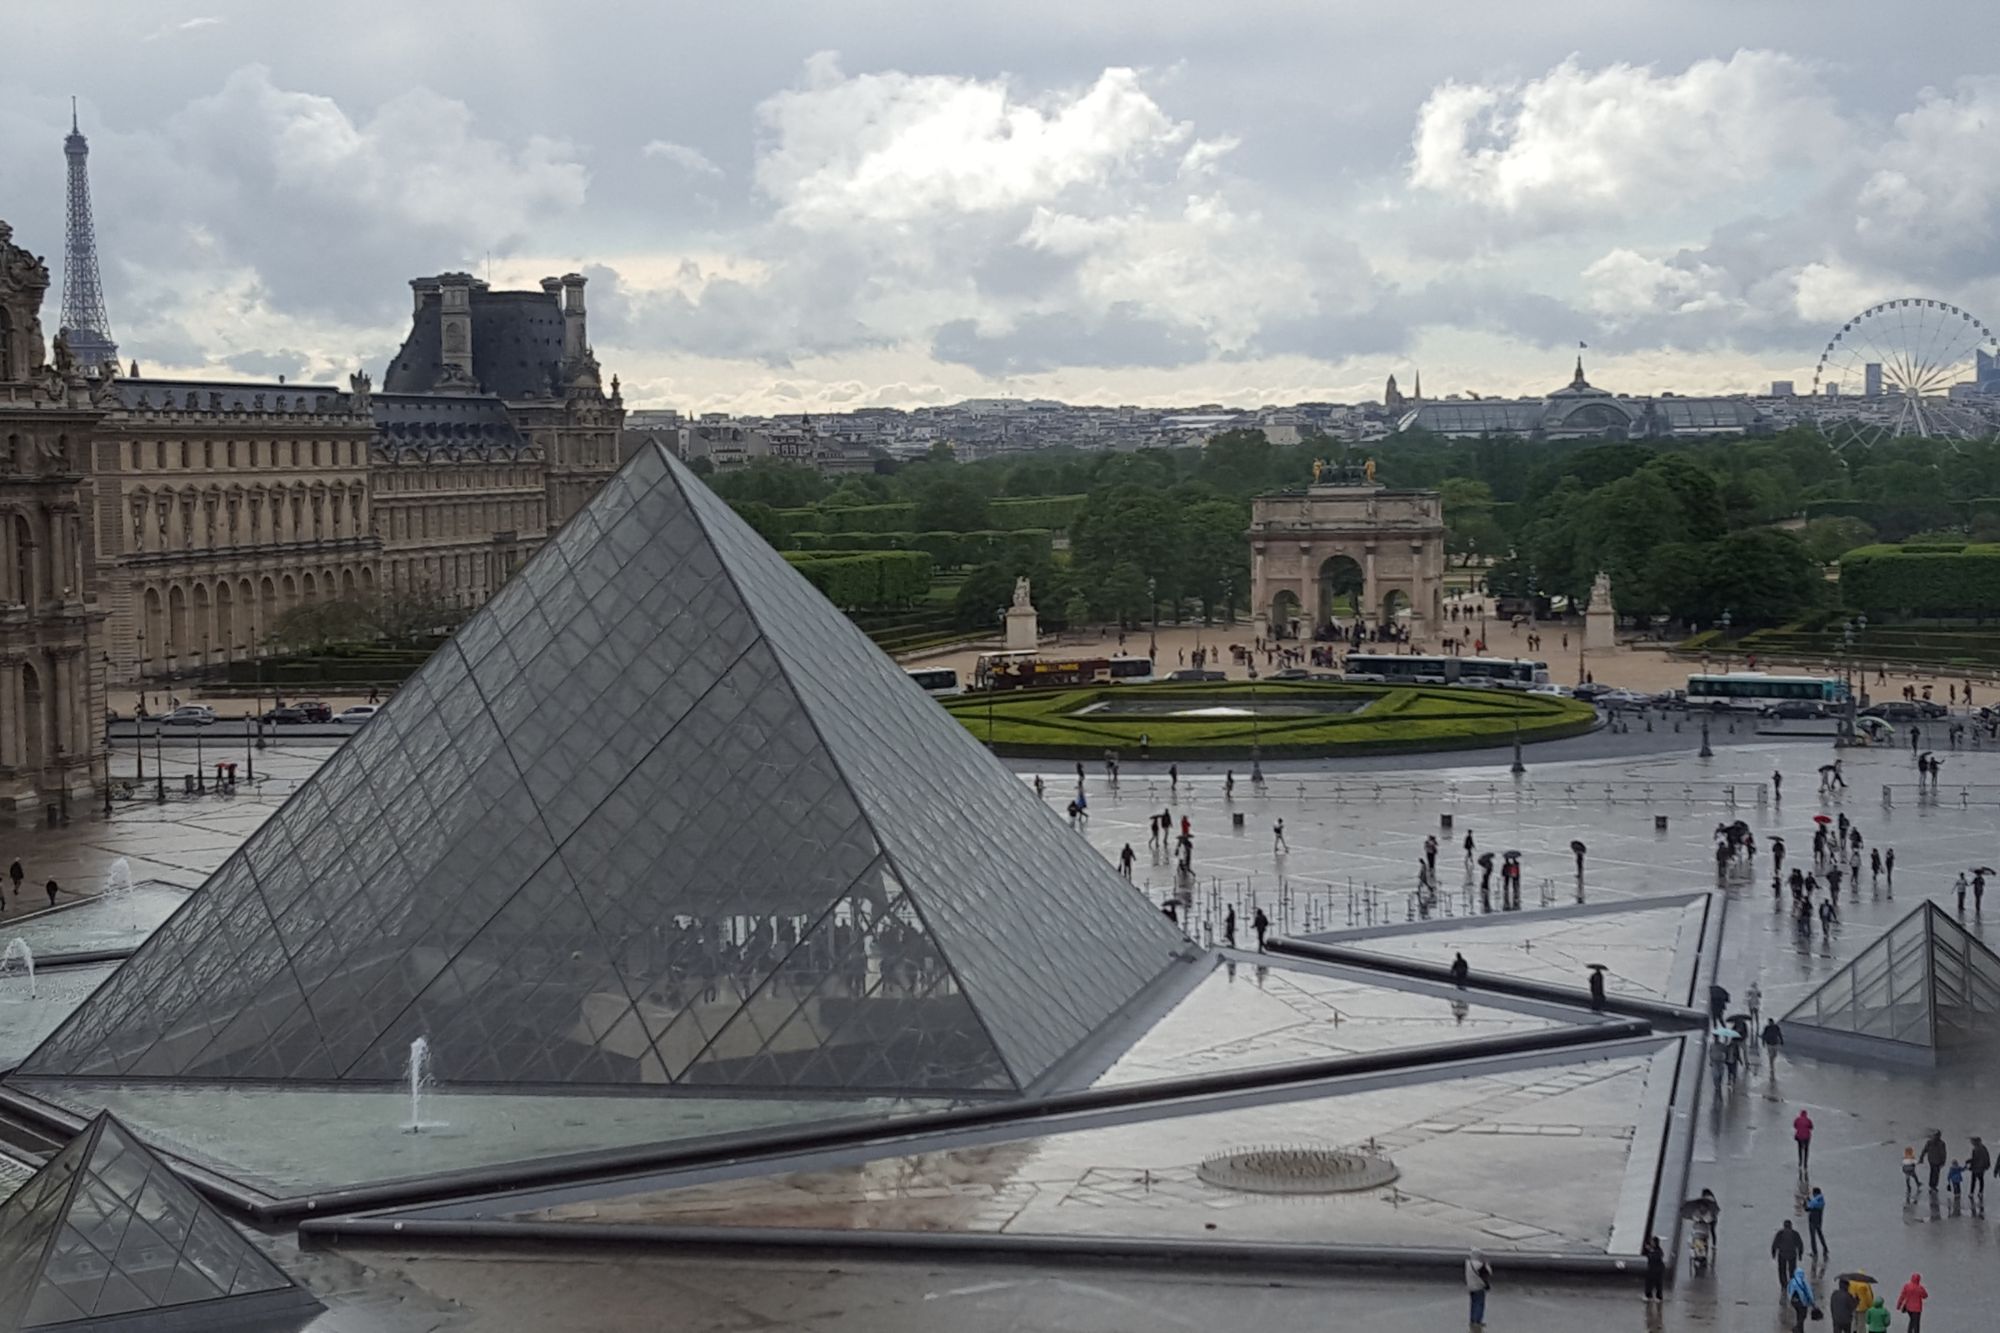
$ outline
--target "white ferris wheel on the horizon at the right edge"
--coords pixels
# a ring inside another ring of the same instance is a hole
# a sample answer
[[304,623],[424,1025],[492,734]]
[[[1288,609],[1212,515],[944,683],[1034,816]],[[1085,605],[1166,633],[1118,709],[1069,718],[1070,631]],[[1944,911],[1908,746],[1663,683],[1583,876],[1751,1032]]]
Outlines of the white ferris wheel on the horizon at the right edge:
[[1812,412],[1834,446],[1984,434],[1984,412],[1950,390],[1982,370],[1992,378],[1994,356],[2000,342],[1970,310],[1928,296],[1884,300],[1826,342],[1812,370]]

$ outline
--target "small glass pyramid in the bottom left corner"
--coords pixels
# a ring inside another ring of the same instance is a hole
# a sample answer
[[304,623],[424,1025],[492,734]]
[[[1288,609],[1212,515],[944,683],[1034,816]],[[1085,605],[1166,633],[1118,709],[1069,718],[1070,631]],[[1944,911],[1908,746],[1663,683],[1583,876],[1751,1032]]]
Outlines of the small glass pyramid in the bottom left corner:
[[[124,1317],[212,1327],[232,1297],[262,1309],[314,1305],[108,1113],[0,1205],[0,1329],[92,1327]],[[248,1307],[240,1301],[238,1309]],[[248,1313],[248,1311],[244,1311]]]

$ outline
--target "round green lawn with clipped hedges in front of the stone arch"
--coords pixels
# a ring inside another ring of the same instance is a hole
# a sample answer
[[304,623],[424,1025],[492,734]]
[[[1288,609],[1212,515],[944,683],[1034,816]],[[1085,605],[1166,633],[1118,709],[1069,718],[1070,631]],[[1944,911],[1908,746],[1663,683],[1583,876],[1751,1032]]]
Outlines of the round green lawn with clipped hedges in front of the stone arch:
[[[1082,713],[1104,699],[1186,701],[1190,709],[1244,701],[1360,701],[1356,713],[1312,717],[1100,717]],[[1098,759],[1118,751],[1132,759],[1140,735],[1154,759],[1378,755],[1454,751],[1522,741],[1574,737],[1596,723],[1590,705],[1546,695],[1444,687],[1384,687],[1336,683],[1124,685],[1022,695],[964,695],[946,709],[1002,755]]]

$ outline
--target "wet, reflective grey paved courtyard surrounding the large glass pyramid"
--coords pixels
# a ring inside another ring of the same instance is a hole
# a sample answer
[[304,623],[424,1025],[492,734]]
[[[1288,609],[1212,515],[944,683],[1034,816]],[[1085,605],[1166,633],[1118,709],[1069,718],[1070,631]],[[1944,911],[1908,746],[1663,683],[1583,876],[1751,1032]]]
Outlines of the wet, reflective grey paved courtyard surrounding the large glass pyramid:
[[[1146,819],[1164,809],[1178,833],[1186,815],[1196,883],[1186,895],[1192,911],[1184,921],[1196,933],[1204,927],[1220,933],[1222,915],[1234,905],[1240,945],[1250,945],[1250,911],[1264,907],[1282,931],[1340,935],[1354,947],[1394,957],[1442,963],[1452,951],[1464,951],[1480,971],[1566,985],[1580,985],[1582,969],[1602,961],[1614,991],[1672,997],[1686,985],[1690,905],[1716,891],[1710,855],[1716,825],[1744,819],[1760,845],[1782,835],[1796,863],[1810,849],[1812,817],[1846,813],[1868,847],[1896,849],[1896,875],[1892,885],[1864,875],[1844,889],[1842,921],[1830,935],[1798,937],[1782,911],[1782,895],[1774,903],[1764,853],[1756,879],[1732,879],[1720,889],[1726,901],[1720,979],[1740,997],[1756,977],[1766,1013],[1782,1013],[1808,995],[1922,897],[1956,913],[1952,883],[1958,871],[1992,865],[2000,851],[2000,753],[1948,755],[1948,779],[1934,801],[1922,803],[1908,751],[1850,753],[1846,793],[1822,801],[1812,789],[1818,765],[1830,757],[1824,743],[1748,735],[1724,743],[1718,737],[1716,757],[1708,761],[1692,753],[1692,735],[1678,745],[1672,735],[1622,743],[1630,745],[1628,753],[1578,761],[1550,757],[1552,747],[1534,747],[1530,773],[1520,783],[1506,775],[1504,755],[1498,765],[1406,759],[1396,769],[1272,771],[1262,793],[1252,791],[1242,773],[1234,793],[1224,793],[1220,773],[1186,773],[1176,791],[1164,769],[1128,765],[1112,791],[1102,773],[1092,771],[1086,779],[1090,819],[1076,837],[1110,861],[1132,843],[1134,891],[1164,901],[1176,889],[1172,853],[1148,847]],[[78,889],[96,889],[108,865],[124,857],[140,881],[192,887],[324,755],[322,749],[274,747],[258,755],[260,771],[274,777],[260,793],[130,803],[110,823],[78,815],[68,829],[10,831],[0,835],[0,855],[22,857],[36,883],[58,877]],[[1782,803],[1770,791],[1774,769],[1784,775]],[[1042,779],[1050,819],[1060,821],[1060,807],[1076,785],[1074,771],[1044,767]],[[1022,781],[1030,781],[1026,771]],[[276,791],[280,783],[286,791]],[[1884,787],[1890,789],[1888,805]],[[1240,831],[1234,815],[1242,815]],[[1440,827],[1440,815],[1452,815],[1452,829]],[[1654,823],[1660,815],[1664,831]],[[1286,851],[1272,847],[1278,819]],[[1462,841],[1468,831],[1480,853],[1522,853],[1520,913],[1480,913],[1476,867],[1474,885],[1466,887]],[[1420,917],[1412,895],[1426,835],[1440,841],[1440,895],[1430,923],[1412,921]],[[1572,839],[1588,847],[1582,885],[1568,847]],[[1412,925],[1422,929],[1408,931]],[[1986,943],[2000,943],[1988,919],[1974,915],[1970,905],[1966,925]],[[1994,929],[2000,929],[2000,899]],[[1262,1045],[1276,1041],[1276,1033],[1284,1033],[1286,1043],[1318,1043],[1338,1053],[1430,1041],[1434,1031],[1454,1023],[1442,999],[1420,993],[1384,993],[1296,967],[1268,965],[1262,977],[1254,971],[1256,959],[1248,953],[1232,973],[1218,969],[1216,979],[1204,983],[1212,987],[1206,997],[1196,989],[1154,1037],[1104,1077],[1146,1079],[1256,1063],[1266,1059]],[[1532,1009],[1486,1003],[1466,1005],[1462,1021],[1492,1031],[1546,1023]],[[1944,1129],[1954,1155],[1966,1151],[1972,1133],[2000,1133],[2000,1121],[1986,1119],[2000,1093],[2000,1075],[1990,1069],[1994,1063],[1976,1055],[1938,1071],[1784,1057],[1774,1071],[1758,1065],[1720,1101],[1704,1101],[1690,1187],[1710,1185],[1724,1201],[1722,1259],[1712,1277],[1682,1275],[1658,1313],[1636,1299],[1636,1277],[1630,1291],[1510,1277],[1506,1241],[1492,1229],[1518,1225],[1522,1237],[1540,1237],[1548,1247],[1606,1243],[1620,1193],[1606,1179],[1644,1121],[1638,1095],[1620,1091],[1618,1081],[1632,1077],[1624,1067],[1606,1065],[1600,1079],[1532,1079],[1512,1093],[1502,1081],[1492,1089],[1500,1111],[1476,1111],[1464,1101],[1470,1089],[1454,1093],[1442,1085],[1418,1089],[1422,1115],[1396,1105],[1396,1097],[1408,1101],[1410,1089],[1372,1093],[1366,1097],[1376,1097],[1382,1109],[1368,1111],[1364,1101],[1354,1101],[1342,1111],[1340,1127],[1366,1133],[1374,1125],[1382,1141],[1404,1135],[1396,1143],[1410,1157],[1408,1193],[1436,1201],[1428,1211],[1410,1207],[1386,1215],[1382,1235],[1470,1243],[1484,1227],[1484,1235],[1494,1237],[1488,1247],[1502,1255],[1496,1255],[1500,1285],[1490,1327],[1550,1333],[1762,1329],[1788,1327],[1764,1249],[1780,1219],[1800,1221],[1790,1119],[1806,1107],[1820,1127],[1814,1179],[1832,1197],[1828,1233],[1836,1269],[1864,1267],[1890,1285],[1922,1271],[1936,1293],[1932,1329],[1980,1327],[1974,1311],[2000,1303],[1988,1221],[1954,1211],[1948,1199],[1932,1203],[1928,1195],[1904,1205],[1896,1159],[1904,1143],[1920,1143],[1932,1127]],[[1542,1091],[1530,1103],[1514,1113],[1504,1109],[1510,1095],[1536,1085]],[[1134,1149],[1144,1159],[1194,1161],[1218,1139],[1288,1129],[1262,1127],[1254,1109],[1230,1115],[1248,1119],[1226,1131],[1180,1121],[1172,1131],[1132,1125],[1050,1135],[1026,1155],[1036,1163],[1032,1171],[1008,1167],[1006,1153],[990,1151],[984,1161],[998,1163],[994,1171],[954,1177],[950,1189],[924,1207],[932,1221],[940,1211],[962,1211],[966,1225],[976,1229],[1172,1233],[1190,1215],[1208,1211],[1174,1207],[1176,1199],[1200,1199],[1200,1187],[1176,1177],[1162,1181],[1154,1197],[1132,1197],[1106,1167],[1118,1167]],[[1526,1135],[1508,1129],[1510,1119],[1534,1125],[1528,1149],[1522,1149]],[[1408,1137],[1412,1125],[1424,1129]],[[1334,1137],[1346,1139],[1344,1133]],[[908,1179],[910,1165],[886,1163],[878,1171],[902,1171]],[[1454,1173],[1464,1197],[1442,1201],[1444,1185],[1426,1187]],[[828,1207],[854,1205],[838,1191],[786,1189],[786,1201],[758,1191],[758,1207],[816,1221]],[[684,1197],[674,1207],[718,1201]],[[1342,1213],[1366,1219],[1354,1203],[1324,1211],[1236,1205],[1226,1213],[1222,1227],[1268,1239],[1348,1231]],[[1392,1333],[1458,1327],[1462,1317],[1462,1295],[1452,1283],[1352,1277],[1232,1283],[1190,1273],[1028,1271],[976,1261],[878,1265],[838,1257],[804,1263],[562,1255],[542,1263],[518,1255],[418,1257],[354,1249],[308,1255],[306,1269],[334,1297],[334,1309],[318,1327],[340,1333],[510,1331],[554,1323],[622,1331],[658,1327],[662,1309],[672,1309],[688,1327],[914,1331],[950,1323],[966,1333],[1208,1327],[1220,1319],[1320,1329],[1330,1307],[1342,1311],[1344,1323]]]

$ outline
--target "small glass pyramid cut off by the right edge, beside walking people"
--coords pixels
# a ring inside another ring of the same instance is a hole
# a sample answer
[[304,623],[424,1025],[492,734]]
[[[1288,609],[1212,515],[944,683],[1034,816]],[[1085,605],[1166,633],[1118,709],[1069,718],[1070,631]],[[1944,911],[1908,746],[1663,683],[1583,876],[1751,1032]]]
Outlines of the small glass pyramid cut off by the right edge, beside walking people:
[[1794,1027],[1952,1047],[2000,1017],[2000,955],[1936,903],[1924,903],[1854,955],[1782,1019]]

